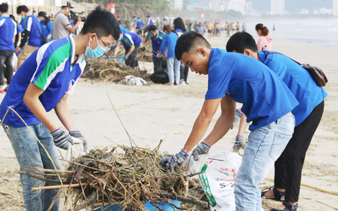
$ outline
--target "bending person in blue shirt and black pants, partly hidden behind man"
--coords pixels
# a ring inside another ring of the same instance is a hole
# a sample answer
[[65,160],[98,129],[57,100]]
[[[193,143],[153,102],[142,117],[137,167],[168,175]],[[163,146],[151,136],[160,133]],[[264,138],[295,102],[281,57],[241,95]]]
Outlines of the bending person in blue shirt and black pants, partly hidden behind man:
[[[258,51],[254,38],[245,32],[235,33],[226,43],[227,52],[237,52],[256,58],[275,72],[289,87],[299,105],[292,110],[295,130],[282,155],[275,162],[275,187],[262,192],[266,198],[284,201],[272,210],[298,208],[302,166],[314,132],[321,121],[324,99],[328,95],[301,65],[283,54]],[[245,116],[242,117],[245,119]],[[237,143],[240,144],[240,143]]]

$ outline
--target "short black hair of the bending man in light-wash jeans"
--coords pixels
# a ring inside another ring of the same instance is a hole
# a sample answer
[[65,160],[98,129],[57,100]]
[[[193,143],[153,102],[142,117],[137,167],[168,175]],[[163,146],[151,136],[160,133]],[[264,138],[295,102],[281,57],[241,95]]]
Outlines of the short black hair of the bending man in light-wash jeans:
[[197,49],[198,47],[211,48],[211,45],[206,38],[203,38],[201,34],[195,31],[183,33],[176,42],[175,56],[180,60],[183,53],[190,52],[190,50]]

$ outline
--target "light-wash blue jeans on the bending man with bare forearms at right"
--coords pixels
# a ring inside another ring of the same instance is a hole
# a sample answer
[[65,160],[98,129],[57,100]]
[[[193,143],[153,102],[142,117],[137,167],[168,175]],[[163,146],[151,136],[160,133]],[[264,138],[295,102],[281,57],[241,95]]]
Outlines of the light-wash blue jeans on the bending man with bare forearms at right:
[[250,132],[235,181],[236,211],[262,210],[259,182],[266,178],[282,155],[294,127],[295,118],[289,112],[275,122]]

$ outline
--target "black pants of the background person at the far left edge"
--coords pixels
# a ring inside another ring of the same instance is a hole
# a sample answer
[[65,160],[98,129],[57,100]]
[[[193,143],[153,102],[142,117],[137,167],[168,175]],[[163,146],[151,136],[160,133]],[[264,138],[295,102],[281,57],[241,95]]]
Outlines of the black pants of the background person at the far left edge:
[[0,50],[0,86],[3,86],[3,77],[7,79],[7,84],[10,84],[10,81],[12,80],[13,52],[14,51]]

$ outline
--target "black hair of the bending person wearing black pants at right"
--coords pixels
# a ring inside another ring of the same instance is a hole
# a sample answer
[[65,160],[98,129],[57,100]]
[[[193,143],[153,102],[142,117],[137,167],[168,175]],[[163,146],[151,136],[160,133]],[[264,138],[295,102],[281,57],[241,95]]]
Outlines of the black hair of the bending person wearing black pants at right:
[[240,54],[244,54],[244,49],[250,49],[252,52],[257,52],[258,48],[254,38],[246,32],[237,32],[226,43],[226,51],[233,52],[234,50]]

